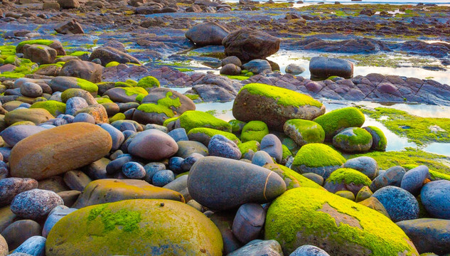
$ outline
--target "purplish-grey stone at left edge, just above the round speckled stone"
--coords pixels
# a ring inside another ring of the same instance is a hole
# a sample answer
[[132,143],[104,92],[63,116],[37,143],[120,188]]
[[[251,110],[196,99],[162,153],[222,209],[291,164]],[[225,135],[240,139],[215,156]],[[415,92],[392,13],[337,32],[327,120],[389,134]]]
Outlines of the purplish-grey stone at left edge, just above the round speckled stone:
[[38,181],[33,178],[0,179],[0,206],[9,205],[16,195],[33,188],[38,188]]

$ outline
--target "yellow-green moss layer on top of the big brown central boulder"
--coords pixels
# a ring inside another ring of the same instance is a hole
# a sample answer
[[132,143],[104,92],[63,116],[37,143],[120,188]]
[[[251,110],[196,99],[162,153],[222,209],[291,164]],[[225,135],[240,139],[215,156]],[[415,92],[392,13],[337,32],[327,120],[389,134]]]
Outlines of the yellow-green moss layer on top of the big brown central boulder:
[[261,95],[278,100],[278,105],[301,107],[310,105],[315,107],[322,107],[322,103],[314,100],[313,97],[294,92],[293,90],[284,89],[272,85],[264,85],[259,83],[250,83],[242,87],[241,90],[247,90],[253,95]]

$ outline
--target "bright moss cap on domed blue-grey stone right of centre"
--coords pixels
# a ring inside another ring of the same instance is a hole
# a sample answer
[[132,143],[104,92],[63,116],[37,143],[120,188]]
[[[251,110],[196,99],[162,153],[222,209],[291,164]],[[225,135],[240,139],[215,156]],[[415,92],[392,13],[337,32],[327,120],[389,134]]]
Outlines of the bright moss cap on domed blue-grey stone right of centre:
[[326,144],[311,143],[299,149],[292,166],[306,167],[341,166],[345,158]]

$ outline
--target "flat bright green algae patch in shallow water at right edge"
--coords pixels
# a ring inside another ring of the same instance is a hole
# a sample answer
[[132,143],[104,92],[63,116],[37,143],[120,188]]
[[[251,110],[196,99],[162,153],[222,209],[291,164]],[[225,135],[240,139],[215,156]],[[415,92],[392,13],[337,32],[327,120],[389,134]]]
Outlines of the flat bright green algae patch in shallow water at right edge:
[[381,122],[390,131],[401,137],[407,137],[409,142],[419,146],[432,142],[450,142],[450,118],[417,117],[405,111],[387,107],[361,111]]

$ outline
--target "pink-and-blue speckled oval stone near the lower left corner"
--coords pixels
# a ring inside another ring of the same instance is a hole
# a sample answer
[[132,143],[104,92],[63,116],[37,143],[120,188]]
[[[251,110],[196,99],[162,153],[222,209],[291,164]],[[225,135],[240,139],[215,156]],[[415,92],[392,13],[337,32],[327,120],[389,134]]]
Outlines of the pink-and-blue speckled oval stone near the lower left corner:
[[63,204],[63,198],[55,192],[34,188],[19,193],[11,203],[11,211],[21,218],[38,220],[47,216],[56,206]]

